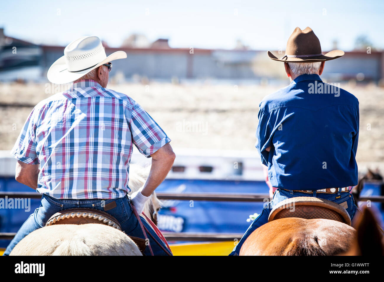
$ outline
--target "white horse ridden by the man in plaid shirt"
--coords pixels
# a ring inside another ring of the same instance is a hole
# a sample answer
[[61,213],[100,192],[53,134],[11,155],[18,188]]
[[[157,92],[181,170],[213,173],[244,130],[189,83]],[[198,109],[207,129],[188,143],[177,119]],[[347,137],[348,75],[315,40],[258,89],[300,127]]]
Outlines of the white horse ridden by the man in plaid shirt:
[[[144,185],[151,167],[129,166],[131,193]],[[161,202],[155,192],[144,206],[144,213],[157,223]],[[54,224],[24,237],[10,256],[141,256],[137,245],[125,233],[104,224]]]

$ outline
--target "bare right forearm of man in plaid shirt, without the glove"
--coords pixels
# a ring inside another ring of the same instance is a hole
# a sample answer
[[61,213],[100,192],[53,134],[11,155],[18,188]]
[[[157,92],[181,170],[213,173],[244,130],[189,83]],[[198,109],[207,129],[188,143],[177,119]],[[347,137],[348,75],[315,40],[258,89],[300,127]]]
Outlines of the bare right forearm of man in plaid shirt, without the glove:
[[152,192],[159,186],[166,178],[169,170],[172,168],[174,162],[174,156],[167,158],[154,159],[152,158],[151,171],[147,178],[144,188],[141,191],[142,195],[150,196]]

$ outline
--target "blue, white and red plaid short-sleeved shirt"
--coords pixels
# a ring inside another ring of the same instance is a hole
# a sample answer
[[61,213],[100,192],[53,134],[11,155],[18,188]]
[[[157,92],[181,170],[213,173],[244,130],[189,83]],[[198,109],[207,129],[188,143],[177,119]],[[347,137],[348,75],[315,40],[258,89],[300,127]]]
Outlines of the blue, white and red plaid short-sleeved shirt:
[[132,143],[150,157],[168,142],[133,99],[84,80],[34,107],[11,155],[26,164],[40,163],[39,193],[114,199],[130,191]]

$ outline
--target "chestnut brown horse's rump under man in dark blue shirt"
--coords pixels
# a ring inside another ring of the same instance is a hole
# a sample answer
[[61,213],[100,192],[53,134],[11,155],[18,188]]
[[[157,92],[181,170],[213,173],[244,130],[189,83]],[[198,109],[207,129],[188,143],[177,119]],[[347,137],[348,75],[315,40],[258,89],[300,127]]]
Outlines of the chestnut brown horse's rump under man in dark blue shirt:
[[260,226],[240,256],[332,256],[350,248],[355,229],[331,219],[281,218]]

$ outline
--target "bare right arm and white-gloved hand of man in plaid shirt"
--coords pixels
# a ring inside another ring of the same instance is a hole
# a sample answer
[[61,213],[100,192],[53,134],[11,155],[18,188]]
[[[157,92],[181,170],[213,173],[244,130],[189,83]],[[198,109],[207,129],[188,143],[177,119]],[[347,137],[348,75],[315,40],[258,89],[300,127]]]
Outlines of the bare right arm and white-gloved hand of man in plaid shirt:
[[152,155],[151,171],[144,186],[131,195],[131,201],[137,210],[137,213],[141,213],[144,208],[144,204],[149,199],[149,196],[155,191],[157,186],[163,182],[166,178],[169,170],[172,168],[175,160],[175,153],[169,143],[161,147]]

